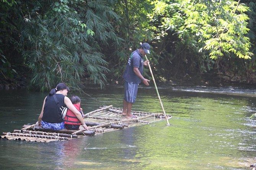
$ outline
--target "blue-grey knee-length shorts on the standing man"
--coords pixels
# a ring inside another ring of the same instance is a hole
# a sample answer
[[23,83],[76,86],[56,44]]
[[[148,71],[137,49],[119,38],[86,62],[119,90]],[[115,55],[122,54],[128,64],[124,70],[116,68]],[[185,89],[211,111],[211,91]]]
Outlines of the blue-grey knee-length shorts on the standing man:
[[124,100],[134,103],[137,97],[139,83],[128,83],[124,81]]

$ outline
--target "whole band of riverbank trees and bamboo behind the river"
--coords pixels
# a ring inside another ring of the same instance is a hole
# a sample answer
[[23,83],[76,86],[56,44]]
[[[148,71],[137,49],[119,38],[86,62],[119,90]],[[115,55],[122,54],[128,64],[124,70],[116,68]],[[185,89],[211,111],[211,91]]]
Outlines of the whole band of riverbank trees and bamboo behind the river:
[[0,88],[121,83],[140,42],[158,82],[256,84],[255,18],[255,0],[1,0]]

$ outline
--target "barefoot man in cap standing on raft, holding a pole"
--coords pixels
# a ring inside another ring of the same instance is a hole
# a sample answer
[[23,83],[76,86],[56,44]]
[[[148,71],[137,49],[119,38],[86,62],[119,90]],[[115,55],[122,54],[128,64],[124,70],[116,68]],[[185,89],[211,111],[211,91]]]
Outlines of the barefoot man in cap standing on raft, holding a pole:
[[146,86],[150,80],[143,77],[143,66],[148,66],[147,61],[143,60],[143,56],[150,54],[150,45],[143,43],[140,48],[133,51],[128,59],[126,69],[124,71],[124,101],[122,115],[127,118],[135,118],[130,111],[132,104],[135,102],[140,81]]

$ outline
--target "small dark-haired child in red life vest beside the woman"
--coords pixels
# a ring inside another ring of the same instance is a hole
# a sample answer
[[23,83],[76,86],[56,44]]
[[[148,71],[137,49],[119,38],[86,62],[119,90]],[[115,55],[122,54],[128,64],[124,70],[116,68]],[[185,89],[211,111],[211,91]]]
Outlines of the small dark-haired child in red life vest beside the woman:
[[[80,113],[82,114],[82,117],[84,117],[83,109],[80,107],[81,99],[78,96],[72,96],[70,100],[75,106],[75,108],[78,111],[80,111]],[[69,130],[78,130],[78,128],[81,125],[80,120],[70,109],[67,110],[67,114],[65,115],[65,118],[64,118],[64,123],[65,123],[65,128]]]

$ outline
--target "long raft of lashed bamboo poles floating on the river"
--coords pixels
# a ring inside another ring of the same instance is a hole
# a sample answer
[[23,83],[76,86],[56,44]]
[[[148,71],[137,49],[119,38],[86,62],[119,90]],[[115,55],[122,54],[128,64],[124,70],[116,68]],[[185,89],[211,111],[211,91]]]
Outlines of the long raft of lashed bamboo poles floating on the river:
[[[0,139],[33,142],[65,141],[145,125],[165,119],[163,113],[132,111],[132,114],[136,115],[137,118],[127,119],[122,116],[122,109],[112,105],[103,106],[85,114],[85,123],[88,126],[88,130],[85,130],[82,126],[80,126],[80,130],[47,130],[36,124],[23,125],[20,130],[13,130],[12,133],[3,132],[3,136],[0,136]],[[171,115],[166,116],[171,119]]]

